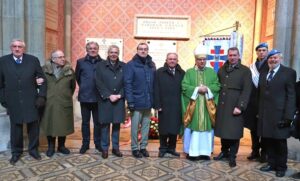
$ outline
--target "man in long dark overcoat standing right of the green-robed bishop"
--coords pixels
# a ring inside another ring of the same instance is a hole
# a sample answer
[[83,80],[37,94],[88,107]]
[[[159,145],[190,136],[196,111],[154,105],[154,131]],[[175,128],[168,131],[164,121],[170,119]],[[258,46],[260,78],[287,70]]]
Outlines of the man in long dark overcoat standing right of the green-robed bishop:
[[215,135],[221,138],[221,153],[214,157],[221,160],[229,157],[229,166],[236,166],[236,154],[240,138],[243,137],[243,112],[247,108],[251,94],[250,69],[241,64],[239,50],[228,49],[228,60],[218,71],[221,84]]

